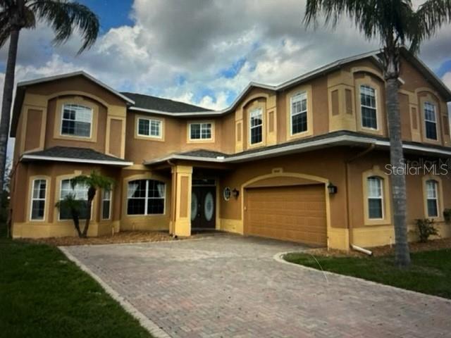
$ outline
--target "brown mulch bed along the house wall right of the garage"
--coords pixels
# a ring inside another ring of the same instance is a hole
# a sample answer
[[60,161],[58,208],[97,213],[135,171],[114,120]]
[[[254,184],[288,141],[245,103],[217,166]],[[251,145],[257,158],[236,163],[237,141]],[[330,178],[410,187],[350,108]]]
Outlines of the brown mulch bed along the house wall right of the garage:
[[[434,239],[426,243],[413,242],[409,243],[410,252],[419,252],[419,251],[432,251],[432,250],[440,250],[440,249],[451,249],[451,237],[444,239]],[[367,249],[367,248],[365,248]],[[373,256],[388,256],[395,253],[395,246],[385,245],[385,246],[376,246],[374,248],[368,248],[373,251]],[[307,251],[312,255],[317,256],[325,256],[325,257],[364,257],[367,256],[364,253],[360,253],[358,251],[350,250],[350,251],[341,251],[335,249],[311,249]]]

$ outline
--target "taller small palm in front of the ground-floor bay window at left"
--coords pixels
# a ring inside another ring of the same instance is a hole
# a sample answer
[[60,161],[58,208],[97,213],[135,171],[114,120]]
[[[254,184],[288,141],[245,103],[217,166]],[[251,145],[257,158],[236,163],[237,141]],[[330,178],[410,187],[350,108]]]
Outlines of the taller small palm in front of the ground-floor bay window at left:
[[87,215],[85,228],[82,232],[82,237],[87,237],[89,221],[91,220],[92,201],[94,200],[94,196],[96,196],[97,189],[110,190],[114,184],[114,180],[111,177],[99,174],[96,170],[92,170],[89,175],[78,175],[74,177],[70,180],[70,184],[73,188],[77,184],[87,187]]

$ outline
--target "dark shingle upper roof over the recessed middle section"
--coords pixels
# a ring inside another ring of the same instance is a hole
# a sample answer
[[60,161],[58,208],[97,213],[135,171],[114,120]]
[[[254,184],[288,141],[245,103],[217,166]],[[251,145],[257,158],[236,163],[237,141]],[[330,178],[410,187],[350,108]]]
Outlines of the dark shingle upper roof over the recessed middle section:
[[209,109],[194,106],[192,104],[185,104],[183,102],[173,101],[170,99],[163,99],[161,97],[121,92],[124,96],[135,101],[133,105],[135,108],[152,109],[154,111],[167,111],[169,113],[194,113],[198,111],[210,111]]

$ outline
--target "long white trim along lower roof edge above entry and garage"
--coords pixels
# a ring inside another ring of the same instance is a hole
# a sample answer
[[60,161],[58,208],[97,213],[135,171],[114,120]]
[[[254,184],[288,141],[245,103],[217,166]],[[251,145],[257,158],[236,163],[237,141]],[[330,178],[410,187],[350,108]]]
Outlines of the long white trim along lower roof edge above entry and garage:
[[[315,147],[323,147],[328,146],[329,144],[335,144],[335,145],[346,145],[346,144],[375,144],[376,146],[390,146],[389,141],[383,141],[383,140],[377,140],[372,139],[370,137],[356,137],[356,136],[350,136],[350,135],[342,135],[337,136],[333,138],[326,138],[326,139],[319,139],[317,141],[311,141],[306,142],[302,144],[292,144],[289,146],[280,146],[276,149],[268,149],[263,151],[256,151],[255,153],[249,153],[249,154],[237,154],[232,155],[227,158],[223,158],[222,156],[218,156],[217,158],[207,158],[202,156],[187,156],[183,154],[171,154],[169,156],[165,156],[162,158],[156,158],[154,160],[150,161],[144,161],[144,165],[154,164],[154,163],[161,163],[168,160],[187,160],[187,161],[202,161],[202,162],[214,162],[214,163],[234,163],[234,162],[240,162],[245,161],[249,158],[264,158],[268,157],[274,154],[281,154],[281,153],[291,153],[295,151],[299,151],[304,149],[305,151],[310,151],[314,149]],[[440,155],[446,155],[451,156],[451,149],[450,151],[440,150],[440,149],[431,149],[426,146],[414,146],[411,144],[403,144],[403,148],[407,150],[415,150],[415,151],[424,151],[427,153],[432,154],[440,154]]]

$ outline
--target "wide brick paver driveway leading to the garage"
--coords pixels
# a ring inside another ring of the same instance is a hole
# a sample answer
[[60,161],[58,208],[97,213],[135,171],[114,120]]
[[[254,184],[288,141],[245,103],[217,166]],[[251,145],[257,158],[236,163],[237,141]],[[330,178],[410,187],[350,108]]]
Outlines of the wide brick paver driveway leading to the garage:
[[224,235],[67,249],[171,337],[451,335],[450,301],[273,259],[296,244]]

